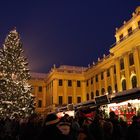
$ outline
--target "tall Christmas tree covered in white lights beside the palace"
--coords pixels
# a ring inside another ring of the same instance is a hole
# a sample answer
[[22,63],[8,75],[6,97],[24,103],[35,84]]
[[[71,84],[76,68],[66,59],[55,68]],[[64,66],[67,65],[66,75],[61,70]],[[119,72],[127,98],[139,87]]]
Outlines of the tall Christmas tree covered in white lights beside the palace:
[[0,117],[28,117],[34,113],[27,66],[20,35],[14,29],[0,50]]

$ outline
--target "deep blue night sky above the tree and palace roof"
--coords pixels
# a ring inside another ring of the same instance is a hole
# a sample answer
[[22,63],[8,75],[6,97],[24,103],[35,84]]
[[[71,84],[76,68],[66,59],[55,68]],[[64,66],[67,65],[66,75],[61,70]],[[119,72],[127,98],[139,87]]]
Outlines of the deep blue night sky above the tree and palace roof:
[[16,27],[31,71],[87,67],[109,54],[115,28],[137,6],[139,0],[1,0],[0,45]]

